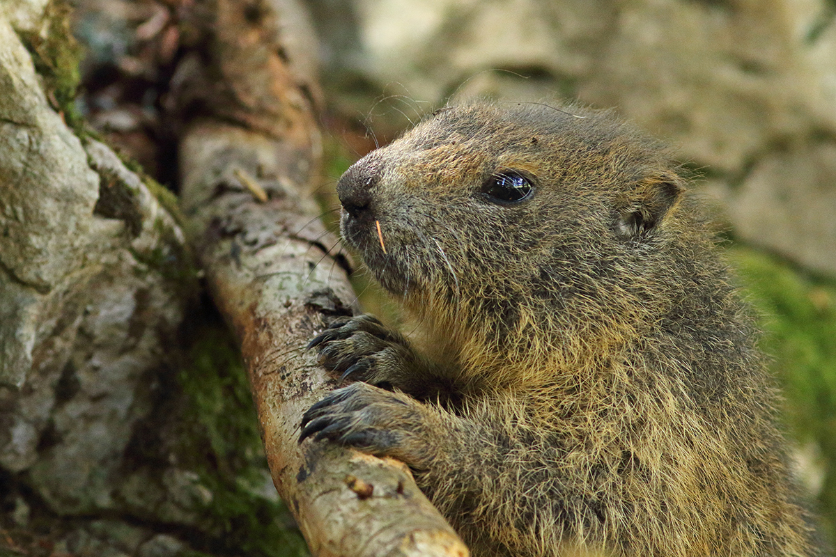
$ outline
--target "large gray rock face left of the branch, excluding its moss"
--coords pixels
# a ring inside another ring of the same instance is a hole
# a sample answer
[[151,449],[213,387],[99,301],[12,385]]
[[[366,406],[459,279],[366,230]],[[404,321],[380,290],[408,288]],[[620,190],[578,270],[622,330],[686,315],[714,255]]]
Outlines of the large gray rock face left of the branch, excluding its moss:
[[187,302],[185,238],[112,150],[67,128],[2,17],[0,230],[0,466],[59,514],[116,509]]

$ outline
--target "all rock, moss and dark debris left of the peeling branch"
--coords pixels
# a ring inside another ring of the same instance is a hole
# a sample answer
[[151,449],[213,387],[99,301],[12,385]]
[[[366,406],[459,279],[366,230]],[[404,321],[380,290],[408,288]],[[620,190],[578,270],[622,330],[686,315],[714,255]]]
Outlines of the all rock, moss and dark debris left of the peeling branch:
[[2,557],[307,553],[157,181],[190,8],[0,0]]

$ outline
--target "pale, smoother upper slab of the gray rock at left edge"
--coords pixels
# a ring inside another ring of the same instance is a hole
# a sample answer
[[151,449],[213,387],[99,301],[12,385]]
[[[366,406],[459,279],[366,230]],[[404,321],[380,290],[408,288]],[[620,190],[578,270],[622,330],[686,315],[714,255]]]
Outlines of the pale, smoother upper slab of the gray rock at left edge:
[[[37,193],[36,193],[37,192]],[[0,384],[21,387],[61,298],[84,285],[99,176],[43,95],[28,52],[0,18]]]

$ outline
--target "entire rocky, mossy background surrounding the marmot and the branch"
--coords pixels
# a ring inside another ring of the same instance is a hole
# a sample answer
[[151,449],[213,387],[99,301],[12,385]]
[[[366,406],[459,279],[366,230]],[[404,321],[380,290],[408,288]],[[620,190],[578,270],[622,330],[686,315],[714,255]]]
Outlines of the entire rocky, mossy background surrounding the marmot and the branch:
[[[157,183],[176,192],[168,99],[192,5],[0,0],[0,557],[304,553]],[[320,65],[326,210],[351,160],[472,95],[615,107],[677,145],[764,314],[833,528],[833,0],[273,5],[298,72]]]

